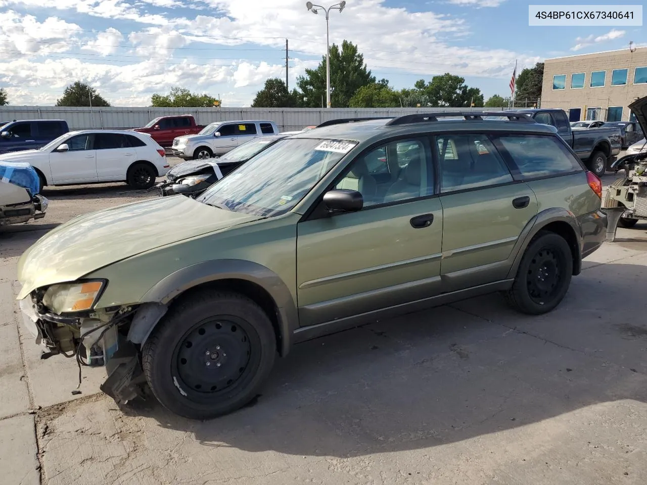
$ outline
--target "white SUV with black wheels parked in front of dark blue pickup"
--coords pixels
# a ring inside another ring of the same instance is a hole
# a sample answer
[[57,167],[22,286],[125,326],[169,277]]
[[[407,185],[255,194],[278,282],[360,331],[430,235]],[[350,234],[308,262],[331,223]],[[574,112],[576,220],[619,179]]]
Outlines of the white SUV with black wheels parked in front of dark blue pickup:
[[166,153],[150,135],[137,131],[71,131],[37,150],[5,153],[0,160],[27,162],[46,185],[127,182],[148,189],[166,175]]

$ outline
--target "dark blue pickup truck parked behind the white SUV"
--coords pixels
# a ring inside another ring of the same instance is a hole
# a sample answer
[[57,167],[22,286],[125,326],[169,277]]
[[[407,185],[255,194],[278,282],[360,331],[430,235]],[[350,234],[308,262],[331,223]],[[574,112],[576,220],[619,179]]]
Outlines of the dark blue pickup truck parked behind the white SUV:
[[0,153],[43,147],[67,133],[65,120],[14,120],[0,125]]

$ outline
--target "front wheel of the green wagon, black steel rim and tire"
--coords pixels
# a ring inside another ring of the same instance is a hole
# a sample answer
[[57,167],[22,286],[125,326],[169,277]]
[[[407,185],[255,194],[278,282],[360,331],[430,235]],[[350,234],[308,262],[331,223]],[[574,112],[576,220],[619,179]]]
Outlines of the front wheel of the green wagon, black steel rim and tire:
[[251,299],[199,292],[174,305],[142,349],[151,391],[192,419],[236,411],[252,400],[276,358],[272,322]]

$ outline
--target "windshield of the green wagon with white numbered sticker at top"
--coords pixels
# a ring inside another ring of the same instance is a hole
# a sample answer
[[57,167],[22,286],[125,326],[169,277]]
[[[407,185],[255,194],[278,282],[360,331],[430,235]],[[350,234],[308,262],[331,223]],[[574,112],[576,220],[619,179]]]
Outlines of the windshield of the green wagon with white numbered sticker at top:
[[196,200],[250,215],[286,213],[355,145],[340,140],[284,138],[221,178]]

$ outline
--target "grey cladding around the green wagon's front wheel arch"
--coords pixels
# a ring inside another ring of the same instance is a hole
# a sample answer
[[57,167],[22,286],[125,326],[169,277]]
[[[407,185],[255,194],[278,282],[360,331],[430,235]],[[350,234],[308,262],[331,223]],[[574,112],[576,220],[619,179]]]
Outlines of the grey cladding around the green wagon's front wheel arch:
[[[134,319],[129,330],[135,343],[143,345],[166,310],[153,310],[149,303],[168,308],[187,292],[195,290],[228,291],[243,294],[255,301],[269,316],[277,339],[277,349],[285,356],[292,332],[298,328],[298,314],[292,294],[281,278],[262,264],[240,259],[204,261],[182,268],[153,286],[142,305],[146,318]],[[154,314],[151,318],[149,314]],[[159,316],[158,316],[159,315]]]

